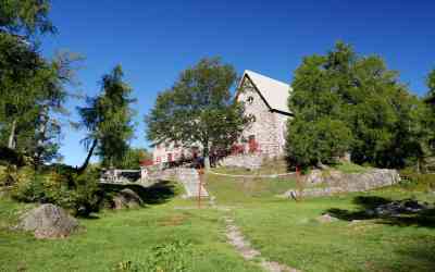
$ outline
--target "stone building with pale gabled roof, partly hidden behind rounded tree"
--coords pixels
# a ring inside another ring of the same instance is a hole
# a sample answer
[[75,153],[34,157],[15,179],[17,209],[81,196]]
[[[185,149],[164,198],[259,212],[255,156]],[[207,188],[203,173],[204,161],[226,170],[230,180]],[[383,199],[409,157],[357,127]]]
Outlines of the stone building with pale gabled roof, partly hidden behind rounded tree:
[[[252,71],[245,71],[236,92],[236,100],[245,102],[246,114],[253,122],[235,143],[234,152],[278,157],[284,153],[286,121],[291,116],[287,100],[291,88]],[[183,148],[175,143],[157,145],[153,149],[156,164],[191,158],[200,148]]]

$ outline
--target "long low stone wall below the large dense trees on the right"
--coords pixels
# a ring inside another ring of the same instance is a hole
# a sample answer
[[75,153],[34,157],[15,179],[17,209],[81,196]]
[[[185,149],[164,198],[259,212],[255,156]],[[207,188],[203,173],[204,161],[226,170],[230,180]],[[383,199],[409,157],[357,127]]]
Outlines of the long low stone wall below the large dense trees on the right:
[[311,173],[307,176],[304,182],[306,188],[301,193],[289,190],[285,193],[284,196],[332,196],[344,193],[365,191],[374,188],[391,186],[400,182],[399,173],[396,170],[389,169],[374,169],[366,173],[350,174],[339,171],[331,171],[320,175],[319,172]]

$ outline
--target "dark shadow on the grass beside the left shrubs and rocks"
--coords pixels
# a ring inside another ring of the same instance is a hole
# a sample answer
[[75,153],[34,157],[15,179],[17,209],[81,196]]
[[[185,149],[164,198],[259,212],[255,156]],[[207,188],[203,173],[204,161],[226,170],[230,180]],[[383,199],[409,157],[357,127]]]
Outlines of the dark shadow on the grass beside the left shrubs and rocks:
[[113,197],[119,191],[123,189],[132,189],[134,190],[146,205],[158,205],[167,202],[171,198],[176,196],[176,187],[173,182],[170,181],[160,181],[154,183],[149,187],[142,187],[140,185],[113,185],[113,184],[104,184],[103,190],[104,194]]

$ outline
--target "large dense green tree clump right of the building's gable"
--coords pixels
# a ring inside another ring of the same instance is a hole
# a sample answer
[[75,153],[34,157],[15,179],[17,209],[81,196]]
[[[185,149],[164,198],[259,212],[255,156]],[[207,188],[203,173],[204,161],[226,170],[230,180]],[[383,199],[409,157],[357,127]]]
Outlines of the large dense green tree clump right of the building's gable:
[[296,70],[289,108],[290,163],[314,165],[349,151],[357,163],[402,168],[425,156],[425,107],[380,57],[337,42]]

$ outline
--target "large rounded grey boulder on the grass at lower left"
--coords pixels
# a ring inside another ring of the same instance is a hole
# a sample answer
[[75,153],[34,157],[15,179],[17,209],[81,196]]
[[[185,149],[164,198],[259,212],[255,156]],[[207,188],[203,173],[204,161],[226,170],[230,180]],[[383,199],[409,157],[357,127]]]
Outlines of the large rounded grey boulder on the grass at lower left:
[[34,232],[37,238],[64,238],[78,228],[78,221],[64,209],[46,203],[25,213],[15,228]]

